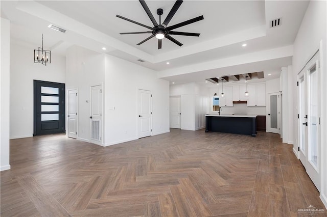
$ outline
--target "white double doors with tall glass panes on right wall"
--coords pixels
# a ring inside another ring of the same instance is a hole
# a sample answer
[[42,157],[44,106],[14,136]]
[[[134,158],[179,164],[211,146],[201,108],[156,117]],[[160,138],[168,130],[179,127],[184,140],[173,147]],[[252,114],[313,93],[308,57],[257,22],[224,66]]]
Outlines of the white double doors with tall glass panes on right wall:
[[299,159],[320,191],[320,69],[319,52],[298,74]]

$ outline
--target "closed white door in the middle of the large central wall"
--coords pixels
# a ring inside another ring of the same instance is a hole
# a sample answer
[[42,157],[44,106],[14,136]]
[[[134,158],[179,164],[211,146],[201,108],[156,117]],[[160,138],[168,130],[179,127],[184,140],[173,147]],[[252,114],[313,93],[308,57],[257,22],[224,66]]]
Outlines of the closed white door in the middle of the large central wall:
[[152,131],[152,92],[138,90],[138,138],[149,137]]

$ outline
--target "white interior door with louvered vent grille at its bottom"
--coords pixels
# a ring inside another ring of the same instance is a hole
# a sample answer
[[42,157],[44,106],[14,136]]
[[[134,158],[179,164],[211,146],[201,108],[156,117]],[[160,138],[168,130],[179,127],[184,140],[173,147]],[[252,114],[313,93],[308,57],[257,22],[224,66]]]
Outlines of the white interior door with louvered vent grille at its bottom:
[[102,141],[102,85],[92,86],[90,93],[90,141]]

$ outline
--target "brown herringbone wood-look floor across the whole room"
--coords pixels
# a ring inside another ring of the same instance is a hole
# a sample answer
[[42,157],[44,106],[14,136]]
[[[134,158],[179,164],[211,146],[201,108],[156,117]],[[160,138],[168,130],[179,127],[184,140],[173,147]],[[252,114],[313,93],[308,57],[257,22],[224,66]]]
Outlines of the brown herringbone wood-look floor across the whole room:
[[1,216],[326,216],[278,134],[171,129],[110,147],[63,134],[10,141]]

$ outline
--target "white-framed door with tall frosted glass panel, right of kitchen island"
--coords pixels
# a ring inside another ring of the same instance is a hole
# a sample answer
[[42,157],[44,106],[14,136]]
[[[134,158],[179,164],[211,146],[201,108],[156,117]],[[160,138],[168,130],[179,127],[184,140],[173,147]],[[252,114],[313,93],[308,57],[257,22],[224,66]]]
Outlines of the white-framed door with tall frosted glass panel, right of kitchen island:
[[279,94],[268,94],[268,118],[267,118],[267,131],[273,133],[281,133],[279,130]]

